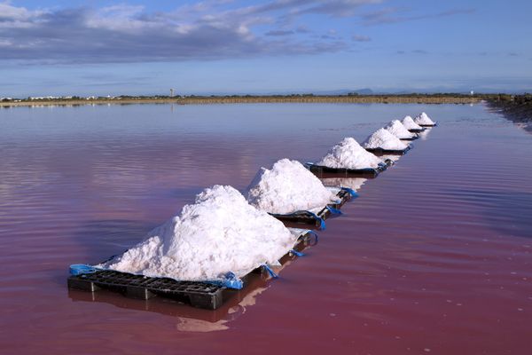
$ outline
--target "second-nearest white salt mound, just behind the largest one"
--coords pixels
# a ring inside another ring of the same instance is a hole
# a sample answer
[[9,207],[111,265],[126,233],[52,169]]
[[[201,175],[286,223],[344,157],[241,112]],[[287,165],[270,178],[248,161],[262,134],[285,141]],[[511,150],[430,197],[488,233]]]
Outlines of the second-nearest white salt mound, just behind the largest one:
[[271,170],[261,168],[247,187],[247,201],[270,213],[292,213],[324,207],[337,200],[301,162],[282,159]]

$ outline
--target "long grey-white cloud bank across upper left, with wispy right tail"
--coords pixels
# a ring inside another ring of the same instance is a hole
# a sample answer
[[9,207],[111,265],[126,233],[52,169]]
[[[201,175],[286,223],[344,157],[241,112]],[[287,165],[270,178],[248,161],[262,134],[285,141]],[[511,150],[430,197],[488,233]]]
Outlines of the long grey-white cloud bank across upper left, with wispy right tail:
[[271,0],[249,5],[206,0],[169,12],[129,4],[27,9],[4,2],[0,3],[0,60],[133,63],[348,51],[372,38],[364,33],[338,34],[321,25],[348,19],[351,25],[364,27],[423,18],[399,16],[404,9],[382,7],[385,1]]

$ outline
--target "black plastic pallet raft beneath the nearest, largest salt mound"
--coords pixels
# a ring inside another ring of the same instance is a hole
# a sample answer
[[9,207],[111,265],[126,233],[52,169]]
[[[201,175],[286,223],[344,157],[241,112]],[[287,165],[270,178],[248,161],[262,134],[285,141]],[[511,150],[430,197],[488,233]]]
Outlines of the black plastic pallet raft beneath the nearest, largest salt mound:
[[[293,248],[297,252],[317,244],[317,235],[305,231],[301,234],[297,244]],[[292,251],[286,253],[280,260],[281,264],[297,257]],[[263,267],[255,269],[242,278],[244,288],[254,275],[267,274]],[[174,299],[194,307],[215,310],[234,295],[236,290],[224,286],[214,285],[200,281],[177,281],[168,278],[153,278],[143,275],[134,275],[127,272],[115,272],[112,270],[98,270],[96,272],[82,273],[70,276],[67,280],[69,289],[88,292],[97,292],[107,289],[120,293],[129,298],[148,300],[155,296]]]

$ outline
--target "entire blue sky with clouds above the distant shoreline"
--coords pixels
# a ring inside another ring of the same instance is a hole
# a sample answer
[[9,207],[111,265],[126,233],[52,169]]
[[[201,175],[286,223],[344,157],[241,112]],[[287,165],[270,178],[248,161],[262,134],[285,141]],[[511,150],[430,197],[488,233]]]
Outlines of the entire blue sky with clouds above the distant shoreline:
[[529,0],[0,0],[0,97],[532,91]]

